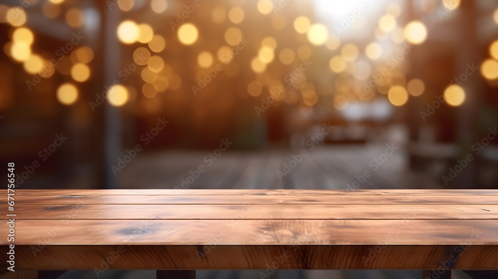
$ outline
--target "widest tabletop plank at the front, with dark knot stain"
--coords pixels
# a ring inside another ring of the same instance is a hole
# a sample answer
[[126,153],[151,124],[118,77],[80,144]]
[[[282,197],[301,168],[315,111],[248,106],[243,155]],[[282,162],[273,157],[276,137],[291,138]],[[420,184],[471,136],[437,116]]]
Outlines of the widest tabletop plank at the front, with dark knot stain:
[[[3,222],[0,228],[7,226]],[[497,220],[16,220],[15,228],[16,247],[498,245]]]

